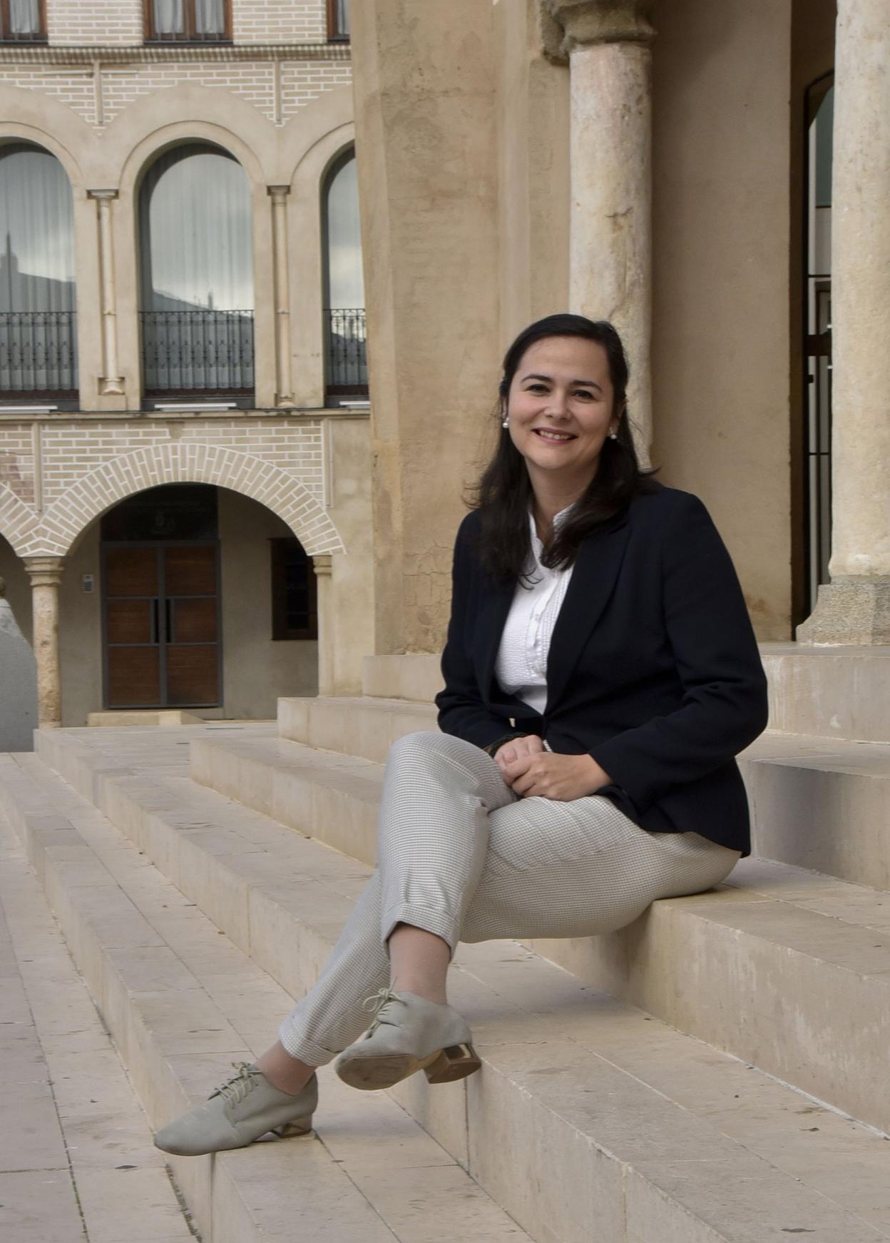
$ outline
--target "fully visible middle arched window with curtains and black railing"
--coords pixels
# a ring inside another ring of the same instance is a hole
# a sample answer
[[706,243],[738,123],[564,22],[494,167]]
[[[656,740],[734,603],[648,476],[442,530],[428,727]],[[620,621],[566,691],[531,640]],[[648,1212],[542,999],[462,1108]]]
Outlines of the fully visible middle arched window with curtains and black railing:
[[250,186],[229,152],[174,147],[139,193],[147,398],[254,400]]

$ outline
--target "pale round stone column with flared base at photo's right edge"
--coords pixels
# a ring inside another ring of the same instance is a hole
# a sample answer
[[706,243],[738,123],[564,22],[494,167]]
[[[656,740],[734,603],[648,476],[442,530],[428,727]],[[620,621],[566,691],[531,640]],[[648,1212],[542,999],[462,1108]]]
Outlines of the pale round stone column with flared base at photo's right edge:
[[890,22],[839,0],[832,180],[832,582],[802,643],[890,644]]

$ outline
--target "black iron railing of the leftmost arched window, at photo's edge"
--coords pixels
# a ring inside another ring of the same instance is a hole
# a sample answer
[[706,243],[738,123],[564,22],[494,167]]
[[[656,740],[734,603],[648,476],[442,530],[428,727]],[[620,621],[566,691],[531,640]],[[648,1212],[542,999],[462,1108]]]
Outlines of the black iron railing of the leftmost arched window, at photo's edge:
[[0,393],[77,395],[77,312],[0,312]]

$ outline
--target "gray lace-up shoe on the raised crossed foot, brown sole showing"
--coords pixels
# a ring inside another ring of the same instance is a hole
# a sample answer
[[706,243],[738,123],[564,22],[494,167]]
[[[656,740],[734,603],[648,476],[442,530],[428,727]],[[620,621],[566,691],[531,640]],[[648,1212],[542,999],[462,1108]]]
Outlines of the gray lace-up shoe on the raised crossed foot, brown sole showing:
[[431,1084],[449,1084],[481,1066],[466,1021],[450,1006],[392,988],[368,997],[365,1009],[368,1002],[377,1018],[334,1063],[351,1088],[392,1088],[415,1070],[423,1070]]

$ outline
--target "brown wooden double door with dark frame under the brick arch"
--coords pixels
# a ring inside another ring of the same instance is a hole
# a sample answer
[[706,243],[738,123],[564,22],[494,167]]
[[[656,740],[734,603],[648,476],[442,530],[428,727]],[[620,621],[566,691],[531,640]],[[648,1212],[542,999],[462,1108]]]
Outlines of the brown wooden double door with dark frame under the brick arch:
[[219,543],[104,543],[102,589],[106,707],[216,707]]

